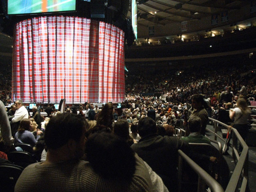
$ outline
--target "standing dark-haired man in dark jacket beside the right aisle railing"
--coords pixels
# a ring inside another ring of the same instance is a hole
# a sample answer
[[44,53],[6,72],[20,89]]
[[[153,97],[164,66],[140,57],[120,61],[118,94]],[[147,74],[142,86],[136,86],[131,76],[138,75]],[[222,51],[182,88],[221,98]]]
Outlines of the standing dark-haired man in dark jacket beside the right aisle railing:
[[[201,135],[205,135],[205,129],[208,122],[208,113],[205,110],[204,104],[204,96],[202,94],[195,94],[191,97],[192,99],[192,107],[194,110],[192,111],[190,118],[194,116],[198,116],[201,119]],[[189,120],[188,120],[189,121]]]

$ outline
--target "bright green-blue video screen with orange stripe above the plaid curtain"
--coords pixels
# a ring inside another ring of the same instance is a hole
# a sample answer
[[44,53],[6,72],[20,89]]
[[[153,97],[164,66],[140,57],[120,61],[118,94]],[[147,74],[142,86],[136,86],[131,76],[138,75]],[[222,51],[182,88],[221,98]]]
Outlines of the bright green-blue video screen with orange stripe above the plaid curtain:
[[75,11],[76,0],[8,0],[8,14]]

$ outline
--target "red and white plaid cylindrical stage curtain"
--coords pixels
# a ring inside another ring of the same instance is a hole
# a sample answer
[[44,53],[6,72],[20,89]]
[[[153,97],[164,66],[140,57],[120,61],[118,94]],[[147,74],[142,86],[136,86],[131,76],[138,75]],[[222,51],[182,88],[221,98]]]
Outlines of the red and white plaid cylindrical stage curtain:
[[124,100],[124,32],[69,16],[16,24],[12,99],[24,102]]

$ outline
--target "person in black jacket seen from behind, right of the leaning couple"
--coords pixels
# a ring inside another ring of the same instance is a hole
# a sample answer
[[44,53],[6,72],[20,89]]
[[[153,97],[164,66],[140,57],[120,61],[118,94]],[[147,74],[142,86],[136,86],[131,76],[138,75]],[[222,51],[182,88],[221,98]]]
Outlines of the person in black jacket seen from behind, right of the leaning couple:
[[186,152],[188,143],[158,135],[156,122],[149,117],[139,120],[138,132],[142,138],[131,148],[162,178],[170,192],[177,191],[178,150]]

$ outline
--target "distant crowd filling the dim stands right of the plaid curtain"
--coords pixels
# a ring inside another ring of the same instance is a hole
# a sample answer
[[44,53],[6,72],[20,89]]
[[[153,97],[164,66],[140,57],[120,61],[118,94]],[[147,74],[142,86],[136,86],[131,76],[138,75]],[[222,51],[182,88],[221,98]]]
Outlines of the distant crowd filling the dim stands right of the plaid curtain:
[[[253,94],[256,84],[254,63],[242,61],[239,65],[216,63],[194,66],[184,72],[158,71],[157,73],[132,74],[126,76],[126,94],[128,96],[160,95],[168,102],[188,102],[193,94],[214,95],[226,91],[229,86],[234,95],[239,94],[246,85],[247,94]],[[149,78],[150,77],[150,78]]]

